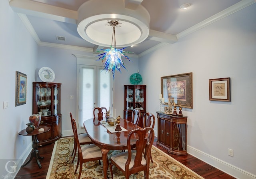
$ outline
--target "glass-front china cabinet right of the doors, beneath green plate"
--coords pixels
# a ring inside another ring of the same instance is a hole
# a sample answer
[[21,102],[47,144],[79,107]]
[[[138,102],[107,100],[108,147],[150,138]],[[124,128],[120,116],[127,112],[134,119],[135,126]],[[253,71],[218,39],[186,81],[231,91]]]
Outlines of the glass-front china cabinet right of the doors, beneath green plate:
[[146,113],[146,85],[124,85],[124,119],[132,121],[134,108],[140,110],[141,118]]

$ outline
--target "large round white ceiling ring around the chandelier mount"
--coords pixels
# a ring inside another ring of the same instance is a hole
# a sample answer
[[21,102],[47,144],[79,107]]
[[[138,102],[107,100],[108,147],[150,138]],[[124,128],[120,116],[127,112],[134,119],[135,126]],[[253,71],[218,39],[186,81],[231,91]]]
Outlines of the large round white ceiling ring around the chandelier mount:
[[139,44],[149,35],[150,15],[138,5],[135,10],[125,8],[122,0],[88,0],[78,8],[77,30],[86,41],[108,47],[111,40],[106,20],[122,21],[122,29],[116,33],[116,47]]

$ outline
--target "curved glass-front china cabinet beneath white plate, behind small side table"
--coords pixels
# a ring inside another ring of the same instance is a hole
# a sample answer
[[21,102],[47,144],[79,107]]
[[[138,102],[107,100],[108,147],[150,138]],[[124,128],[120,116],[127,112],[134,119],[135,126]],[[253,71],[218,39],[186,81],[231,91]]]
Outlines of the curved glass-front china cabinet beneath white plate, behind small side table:
[[37,136],[39,145],[53,143],[62,137],[60,83],[33,82],[33,114],[40,114],[40,126],[50,127]]

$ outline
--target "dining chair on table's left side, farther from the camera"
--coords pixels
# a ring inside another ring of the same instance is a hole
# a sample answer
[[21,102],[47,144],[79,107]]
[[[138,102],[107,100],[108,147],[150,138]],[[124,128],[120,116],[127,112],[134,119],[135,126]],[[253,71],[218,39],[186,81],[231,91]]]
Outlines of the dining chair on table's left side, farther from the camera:
[[[72,125],[72,130],[73,130],[73,134],[75,135],[74,133],[74,125],[73,125],[73,116],[72,116],[72,113],[70,113],[70,119],[71,119],[71,125]],[[92,140],[90,139],[90,137],[88,137],[87,133],[81,133],[78,135],[78,141],[80,143],[80,145],[85,145],[85,144],[92,144]],[[73,148],[73,151],[72,151],[72,154],[71,156],[74,154],[74,157],[71,161],[71,163],[74,162],[74,159],[75,159],[75,156],[76,156],[76,150],[77,150],[77,145],[76,145],[76,142],[74,140],[74,148]]]

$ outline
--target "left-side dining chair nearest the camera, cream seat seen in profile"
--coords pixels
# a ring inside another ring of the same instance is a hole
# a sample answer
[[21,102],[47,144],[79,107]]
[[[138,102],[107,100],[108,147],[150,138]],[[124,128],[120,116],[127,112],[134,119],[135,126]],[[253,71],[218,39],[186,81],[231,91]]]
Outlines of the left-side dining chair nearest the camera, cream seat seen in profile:
[[83,163],[86,163],[88,161],[99,160],[99,165],[101,165],[100,160],[102,160],[102,153],[100,147],[96,146],[95,144],[84,145],[81,147],[80,142],[78,140],[75,119],[72,120],[72,125],[74,127],[74,138],[78,149],[78,159],[74,175],[76,174],[79,165],[80,167],[77,179],[80,179]]

